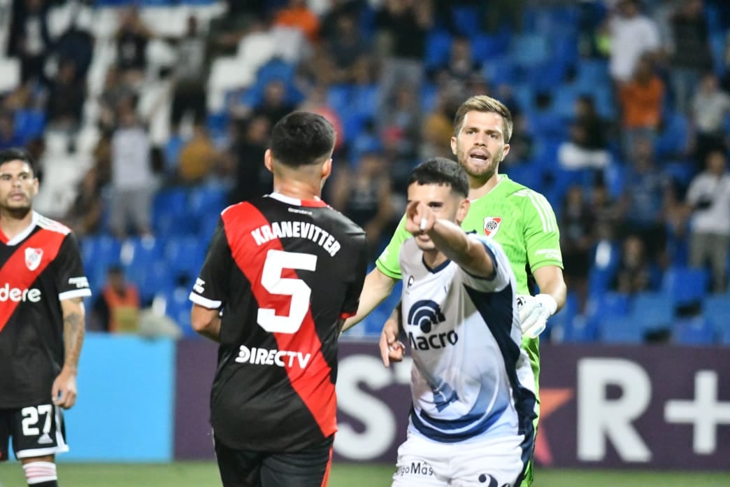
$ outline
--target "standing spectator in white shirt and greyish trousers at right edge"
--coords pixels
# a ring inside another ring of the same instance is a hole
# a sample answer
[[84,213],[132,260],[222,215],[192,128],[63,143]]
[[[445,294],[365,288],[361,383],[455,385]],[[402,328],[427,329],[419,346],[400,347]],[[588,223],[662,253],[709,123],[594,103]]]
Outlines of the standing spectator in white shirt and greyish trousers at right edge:
[[726,172],[726,159],[722,150],[710,152],[707,169],[694,177],[687,190],[687,203],[692,210],[690,265],[703,267],[710,261],[713,293],[722,293],[727,284],[730,174]]

